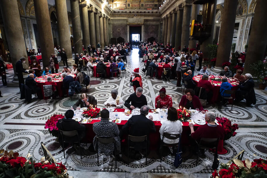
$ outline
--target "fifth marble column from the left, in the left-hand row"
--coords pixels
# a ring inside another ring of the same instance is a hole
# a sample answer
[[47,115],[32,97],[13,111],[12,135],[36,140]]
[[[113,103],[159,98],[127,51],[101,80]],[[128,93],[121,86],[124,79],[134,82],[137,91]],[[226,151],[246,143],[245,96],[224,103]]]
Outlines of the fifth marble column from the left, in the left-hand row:
[[82,44],[85,49],[90,44],[88,6],[86,4],[82,4]]

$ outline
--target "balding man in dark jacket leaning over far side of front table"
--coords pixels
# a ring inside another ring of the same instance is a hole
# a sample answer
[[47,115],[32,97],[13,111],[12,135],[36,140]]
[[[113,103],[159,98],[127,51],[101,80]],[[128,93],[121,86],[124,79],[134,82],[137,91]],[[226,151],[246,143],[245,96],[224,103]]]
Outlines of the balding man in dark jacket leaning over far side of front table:
[[96,107],[96,99],[92,95],[88,95],[86,93],[82,93],[78,101],[73,105],[73,109],[75,110],[78,106],[83,107]]

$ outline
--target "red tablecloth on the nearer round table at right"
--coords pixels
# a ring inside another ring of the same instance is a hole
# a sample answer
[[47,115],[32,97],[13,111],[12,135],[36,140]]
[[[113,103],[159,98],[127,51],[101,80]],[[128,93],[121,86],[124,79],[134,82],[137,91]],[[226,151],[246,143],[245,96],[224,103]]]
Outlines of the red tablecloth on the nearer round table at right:
[[[193,77],[193,81],[196,83],[196,86],[198,86],[198,78],[201,79],[202,75],[197,75]],[[215,76],[212,75],[210,78],[215,78]],[[211,102],[214,104],[215,102],[220,101],[219,96],[220,96],[220,88],[221,88],[221,85],[215,86],[214,84],[217,84],[217,83],[222,84],[222,82],[217,82],[213,80],[209,80],[209,81],[213,83],[213,88],[212,88],[213,96],[212,96]],[[238,85],[232,85],[232,86],[233,86],[232,90],[238,89]],[[232,97],[234,98],[234,95],[232,95]],[[229,102],[232,102],[232,101],[229,101]]]

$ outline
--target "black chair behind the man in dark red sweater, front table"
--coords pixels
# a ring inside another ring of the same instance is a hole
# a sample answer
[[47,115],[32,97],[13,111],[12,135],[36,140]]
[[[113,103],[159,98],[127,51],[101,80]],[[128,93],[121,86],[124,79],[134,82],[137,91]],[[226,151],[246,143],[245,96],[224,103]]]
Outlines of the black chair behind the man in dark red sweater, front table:
[[[214,138],[214,139],[210,139],[210,138],[201,138],[199,143],[197,143],[198,145],[198,150],[197,150],[197,154],[199,152],[199,149],[215,149],[217,151],[217,147],[218,147],[218,143],[219,143],[220,138]],[[217,154],[217,153],[215,153]],[[197,162],[198,162],[198,155],[197,155]]]

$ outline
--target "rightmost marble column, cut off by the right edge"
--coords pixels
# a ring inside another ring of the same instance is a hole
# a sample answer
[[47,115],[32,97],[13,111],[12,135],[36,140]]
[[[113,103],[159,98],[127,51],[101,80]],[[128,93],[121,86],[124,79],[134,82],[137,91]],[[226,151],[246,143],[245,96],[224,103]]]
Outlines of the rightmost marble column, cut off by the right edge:
[[250,73],[253,75],[254,72],[249,65],[264,58],[267,45],[267,26],[263,25],[263,22],[267,21],[266,9],[266,1],[257,0],[243,74]]

